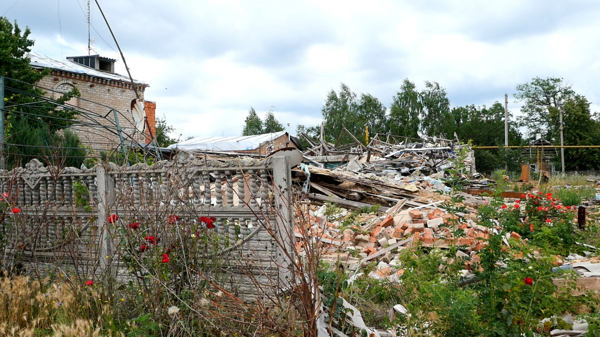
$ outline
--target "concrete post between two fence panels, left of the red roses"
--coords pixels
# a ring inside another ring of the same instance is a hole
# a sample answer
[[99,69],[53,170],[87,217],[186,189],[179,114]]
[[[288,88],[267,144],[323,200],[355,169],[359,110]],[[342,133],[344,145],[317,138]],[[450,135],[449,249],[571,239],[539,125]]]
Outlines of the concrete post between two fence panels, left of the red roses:
[[[111,263],[115,251],[112,241],[112,224],[109,224],[111,207],[115,203],[115,180],[103,166],[96,167],[98,187],[98,251],[100,252],[101,272],[113,273]],[[109,258],[107,258],[109,257]]]

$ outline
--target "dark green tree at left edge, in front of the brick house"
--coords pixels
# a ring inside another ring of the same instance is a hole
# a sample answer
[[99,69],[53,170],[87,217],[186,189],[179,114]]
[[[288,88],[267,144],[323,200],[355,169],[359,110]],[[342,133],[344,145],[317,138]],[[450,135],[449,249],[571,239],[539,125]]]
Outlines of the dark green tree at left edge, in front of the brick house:
[[[29,28],[25,31],[14,26],[5,17],[0,17],[0,76],[5,76],[5,135],[9,147],[7,158],[9,166],[22,165],[38,157],[51,164],[67,163],[65,155],[71,156],[71,166],[79,166],[84,158],[79,139],[73,133],[63,130],[73,125],[79,112],[63,106],[79,91],[62,95],[50,103],[38,97],[46,94],[32,84],[50,73],[49,69],[37,71],[31,67],[27,53],[34,41],[29,39]],[[35,104],[34,104],[35,103]],[[57,107],[62,106],[62,107]],[[59,133],[59,130],[63,130]],[[16,144],[16,145],[10,145]],[[53,151],[55,146],[74,148],[74,152]],[[44,149],[44,150],[42,150]],[[57,157],[58,156],[58,157]],[[61,157],[63,156],[63,157]]]

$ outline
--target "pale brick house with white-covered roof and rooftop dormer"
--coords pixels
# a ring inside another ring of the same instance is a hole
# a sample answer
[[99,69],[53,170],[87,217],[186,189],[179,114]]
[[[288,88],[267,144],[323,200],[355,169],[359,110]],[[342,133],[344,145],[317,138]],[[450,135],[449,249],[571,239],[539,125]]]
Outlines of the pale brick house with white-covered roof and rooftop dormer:
[[[70,129],[84,145],[92,149],[120,146],[117,122],[126,146],[151,142],[150,134],[156,134],[156,103],[144,100],[148,84],[134,80],[140,97],[140,103],[137,103],[130,79],[115,73],[116,60],[90,55],[59,61],[37,53],[29,53],[29,58],[34,68],[52,69],[52,73],[37,83],[47,89],[49,97],[58,98],[73,88],[79,89],[81,97],[71,99],[68,104],[85,113],[77,117],[81,123]],[[117,111],[118,121],[115,121],[112,109]]]

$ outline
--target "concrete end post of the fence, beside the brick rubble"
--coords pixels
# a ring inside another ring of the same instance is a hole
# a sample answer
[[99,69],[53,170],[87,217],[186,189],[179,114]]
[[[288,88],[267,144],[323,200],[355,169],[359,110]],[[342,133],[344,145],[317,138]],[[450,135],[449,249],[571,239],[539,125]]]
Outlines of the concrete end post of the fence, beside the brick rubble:
[[[277,264],[280,266],[279,278],[280,285],[285,287],[292,281],[291,267],[294,255],[294,222],[293,222],[293,204],[292,204],[292,171],[290,168],[289,157],[273,157],[273,188],[275,195],[275,225],[277,229],[277,240],[287,251],[278,251]],[[282,248],[279,248],[282,249]]]

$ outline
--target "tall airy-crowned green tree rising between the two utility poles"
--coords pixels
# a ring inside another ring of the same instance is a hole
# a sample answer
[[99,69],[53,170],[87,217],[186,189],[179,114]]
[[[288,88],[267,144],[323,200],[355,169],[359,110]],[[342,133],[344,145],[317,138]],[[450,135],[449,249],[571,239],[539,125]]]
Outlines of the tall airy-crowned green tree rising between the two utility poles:
[[[563,83],[563,79],[535,77],[529,83],[517,85],[517,101],[522,101],[519,125],[527,128],[529,140],[535,140],[536,134],[541,134],[546,140],[557,137],[557,112],[566,98],[572,97],[574,91],[571,85]],[[551,119],[551,116],[555,116]]]

